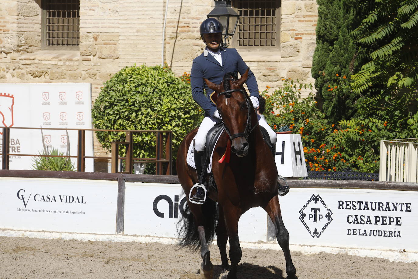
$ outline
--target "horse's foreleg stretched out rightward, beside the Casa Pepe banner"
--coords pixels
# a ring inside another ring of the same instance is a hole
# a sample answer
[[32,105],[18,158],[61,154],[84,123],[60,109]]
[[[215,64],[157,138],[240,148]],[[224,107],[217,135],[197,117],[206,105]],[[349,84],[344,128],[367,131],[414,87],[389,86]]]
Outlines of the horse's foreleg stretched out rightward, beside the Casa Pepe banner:
[[271,220],[273,221],[274,227],[276,229],[277,242],[279,243],[280,247],[283,250],[283,253],[285,254],[286,273],[288,274],[289,278],[291,278],[295,276],[296,268],[295,266],[293,266],[292,257],[290,255],[289,232],[283,224],[278,196],[273,197],[268,202],[264,210],[268,213]]

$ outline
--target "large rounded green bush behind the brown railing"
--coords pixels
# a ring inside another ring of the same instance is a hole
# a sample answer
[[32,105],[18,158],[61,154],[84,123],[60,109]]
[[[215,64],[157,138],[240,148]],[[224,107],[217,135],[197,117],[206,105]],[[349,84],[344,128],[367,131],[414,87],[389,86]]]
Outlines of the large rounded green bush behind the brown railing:
[[[173,131],[174,156],[202,116],[191,97],[189,82],[161,66],[123,68],[104,83],[92,109],[96,129]],[[96,134],[108,150],[112,141],[125,141],[123,132]],[[133,156],[155,157],[155,139],[154,133],[135,134]],[[125,146],[120,145],[120,156],[125,152]]]

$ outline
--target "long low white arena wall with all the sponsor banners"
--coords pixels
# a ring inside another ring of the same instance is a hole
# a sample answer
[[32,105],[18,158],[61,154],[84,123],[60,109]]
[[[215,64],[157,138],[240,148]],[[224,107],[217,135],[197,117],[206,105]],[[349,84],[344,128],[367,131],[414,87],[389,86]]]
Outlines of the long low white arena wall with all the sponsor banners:
[[[120,177],[0,177],[0,229],[176,238],[186,204],[181,186]],[[390,190],[392,182],[364,189],[373,182],[339,181],[321,188],[330,183],[289,181],[291,192],[279,201],[291,245],[418,253],[418,184]],[[253,208],[240,219],[240,241],[271,244],[272,228],[265,211]]]

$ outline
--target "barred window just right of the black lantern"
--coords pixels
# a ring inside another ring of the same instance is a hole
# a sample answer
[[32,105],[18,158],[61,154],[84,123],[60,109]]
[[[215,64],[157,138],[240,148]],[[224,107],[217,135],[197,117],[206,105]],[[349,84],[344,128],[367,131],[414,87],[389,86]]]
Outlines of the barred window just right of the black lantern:
[[235,0],[240,15],[237,46],[278,46],[280,0]]

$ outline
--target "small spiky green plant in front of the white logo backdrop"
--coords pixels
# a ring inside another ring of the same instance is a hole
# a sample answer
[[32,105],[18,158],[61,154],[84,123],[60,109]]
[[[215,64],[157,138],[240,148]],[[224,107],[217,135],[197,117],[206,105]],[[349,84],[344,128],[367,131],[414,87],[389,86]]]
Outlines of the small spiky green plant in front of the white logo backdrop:
[[[52,148],[51,151],[43,150],[40,155],[64,156],[64,152]],[[74,171],[74,164],[70,158],[63,157],[33,157],[32,168],[38,171]]]

